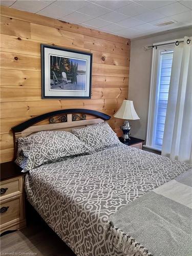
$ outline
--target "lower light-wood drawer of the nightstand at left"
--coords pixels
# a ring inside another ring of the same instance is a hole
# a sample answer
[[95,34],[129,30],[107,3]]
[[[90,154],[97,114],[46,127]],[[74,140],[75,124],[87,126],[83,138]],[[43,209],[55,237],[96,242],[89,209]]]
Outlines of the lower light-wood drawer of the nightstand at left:
[[23,194],[1,201],[1,231],[24,219]]

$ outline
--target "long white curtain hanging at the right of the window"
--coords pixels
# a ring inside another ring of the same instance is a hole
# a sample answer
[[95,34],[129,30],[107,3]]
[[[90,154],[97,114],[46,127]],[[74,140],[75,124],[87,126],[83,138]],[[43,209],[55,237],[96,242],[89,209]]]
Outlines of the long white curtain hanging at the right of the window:
[[192,41],[175,46],[162,155],[192,163]]

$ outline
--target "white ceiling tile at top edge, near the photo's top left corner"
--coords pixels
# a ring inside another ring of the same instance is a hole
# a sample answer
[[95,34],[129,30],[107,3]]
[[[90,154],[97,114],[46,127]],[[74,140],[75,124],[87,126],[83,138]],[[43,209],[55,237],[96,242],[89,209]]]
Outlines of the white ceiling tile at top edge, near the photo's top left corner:
[[31,1],[17,0],[11,7],[18,10],[22,10],[22,11],[36,13],[48,5],[49,5],[48,2],[45,3],[45,2],[34,1],[34,0],[31,0]]

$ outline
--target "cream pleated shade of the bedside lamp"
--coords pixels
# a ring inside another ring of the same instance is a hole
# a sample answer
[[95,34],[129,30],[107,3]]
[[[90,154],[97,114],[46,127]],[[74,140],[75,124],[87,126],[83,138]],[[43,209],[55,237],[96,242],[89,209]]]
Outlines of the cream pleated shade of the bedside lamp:
[[119,110],[115,113],[114,117],[126,120],[140,119],[134,109],[132,100],[123,100]]

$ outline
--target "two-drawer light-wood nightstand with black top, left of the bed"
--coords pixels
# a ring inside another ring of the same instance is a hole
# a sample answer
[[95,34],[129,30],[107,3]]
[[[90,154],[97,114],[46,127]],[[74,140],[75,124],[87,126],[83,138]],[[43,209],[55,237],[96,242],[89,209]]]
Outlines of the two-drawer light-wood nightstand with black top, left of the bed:
[[1,234],[26,226],[24,202],[24,173],[14,162],[1,164]]

